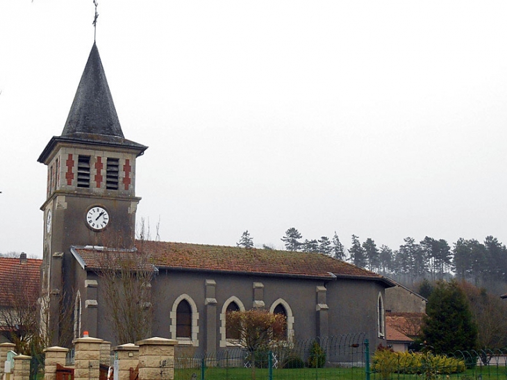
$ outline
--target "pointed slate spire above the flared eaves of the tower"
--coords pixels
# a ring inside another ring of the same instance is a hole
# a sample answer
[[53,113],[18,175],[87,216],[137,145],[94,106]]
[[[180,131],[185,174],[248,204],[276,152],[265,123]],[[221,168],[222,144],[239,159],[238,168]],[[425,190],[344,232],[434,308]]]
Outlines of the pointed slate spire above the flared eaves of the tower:
[[78,137],[76,133],[124,137],[95,42],[62,136]]

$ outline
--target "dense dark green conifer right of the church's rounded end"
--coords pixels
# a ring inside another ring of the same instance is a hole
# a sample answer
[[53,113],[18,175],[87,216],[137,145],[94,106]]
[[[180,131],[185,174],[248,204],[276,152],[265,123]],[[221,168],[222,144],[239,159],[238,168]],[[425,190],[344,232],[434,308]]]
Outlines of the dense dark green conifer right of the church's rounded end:
[[426,343],[435,354],[476,349],[477,326],[467,297],[456,281],[439,281],[428,299],[422,326]]

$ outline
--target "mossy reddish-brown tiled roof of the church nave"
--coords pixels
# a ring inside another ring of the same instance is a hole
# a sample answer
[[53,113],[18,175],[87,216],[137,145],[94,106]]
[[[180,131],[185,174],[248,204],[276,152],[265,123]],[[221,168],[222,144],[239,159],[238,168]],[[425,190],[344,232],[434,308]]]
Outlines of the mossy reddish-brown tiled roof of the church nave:
[[[271,249],[246,249],[218,245],[198,245],[181,242],[136,241],[138,251],[151,258],[160,269],[217,271],[262,274],[272,276],[302,276],[332,279],[335,276],[392,281],[379,274],[324,254],[278,251]],[[90,270],[101,268],[101,252],[74,247]],[[103,254],[102,254],[103,257]]]

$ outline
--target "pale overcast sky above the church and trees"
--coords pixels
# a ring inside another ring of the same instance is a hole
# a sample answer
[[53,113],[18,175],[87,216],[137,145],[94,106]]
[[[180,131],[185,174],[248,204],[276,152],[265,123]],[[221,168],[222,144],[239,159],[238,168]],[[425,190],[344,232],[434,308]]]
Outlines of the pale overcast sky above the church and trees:
[[[99,0],[97,47],[167,241],[507,242],[506,1]],[[42,256],[92,0],[0,1],[0,252]],[[153,235],[153,231],[152,231]]]

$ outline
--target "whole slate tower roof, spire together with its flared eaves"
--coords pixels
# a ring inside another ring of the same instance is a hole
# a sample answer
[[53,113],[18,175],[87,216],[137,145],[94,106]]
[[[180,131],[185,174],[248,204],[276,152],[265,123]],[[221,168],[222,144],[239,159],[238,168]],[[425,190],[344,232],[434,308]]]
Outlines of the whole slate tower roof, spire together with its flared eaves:
[[72,101],[62,135],[51,138],[40,155],[39,162],[44,162],[57,142],[127,147],[139,150],[139,155],[147,149],[142,144],[124,138],[95,42],[88,56],[74,101]]

